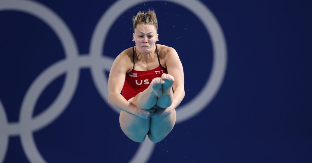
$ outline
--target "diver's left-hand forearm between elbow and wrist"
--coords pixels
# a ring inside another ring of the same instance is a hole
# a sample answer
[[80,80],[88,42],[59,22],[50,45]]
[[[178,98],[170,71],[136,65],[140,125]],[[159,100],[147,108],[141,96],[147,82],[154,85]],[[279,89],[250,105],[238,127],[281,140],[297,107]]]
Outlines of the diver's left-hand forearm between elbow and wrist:
[[137,109],[135,105],[128,102],[120,93],[110,93],[108,102],[122,111],[134,114]]

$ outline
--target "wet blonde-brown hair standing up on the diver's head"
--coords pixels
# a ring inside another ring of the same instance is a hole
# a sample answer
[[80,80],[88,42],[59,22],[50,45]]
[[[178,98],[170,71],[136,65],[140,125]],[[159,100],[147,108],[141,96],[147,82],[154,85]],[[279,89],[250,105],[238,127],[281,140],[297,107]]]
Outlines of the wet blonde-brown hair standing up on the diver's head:
[[139,24],[149,24],[154,25],[157,33],[158,21],[156,18],[156,12],[154,10],[149,10],[145,13],[139,11],[136,16],[133,16],[132,22],[133,22],[133,32]]

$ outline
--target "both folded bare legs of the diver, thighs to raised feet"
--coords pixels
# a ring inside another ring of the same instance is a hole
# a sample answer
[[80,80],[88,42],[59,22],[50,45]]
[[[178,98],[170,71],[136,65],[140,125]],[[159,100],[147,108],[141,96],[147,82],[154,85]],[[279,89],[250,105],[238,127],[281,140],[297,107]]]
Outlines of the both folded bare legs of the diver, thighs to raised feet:
[[[154,78],[148,88],[137,94],[132,100],[129,100],[129,102],[144,110],[153,108],[159,100],[163,101],[159,102],[159,104],[165,104],[162,106],[170,106],[173,99],[171,87],[174,81],[173,77],[171,76],[171,78],[170,76],[162,75],[161,78]],[[172,130],[175,119],[174,111],[174,113],[172,112],[162,118],[154,118],[152,121],[153,123],[150,124],[151,118],[143,119],[121,111],[119,123],[124,134],[135,142],[143,142],[148,132],[151,141],[159,142]]]

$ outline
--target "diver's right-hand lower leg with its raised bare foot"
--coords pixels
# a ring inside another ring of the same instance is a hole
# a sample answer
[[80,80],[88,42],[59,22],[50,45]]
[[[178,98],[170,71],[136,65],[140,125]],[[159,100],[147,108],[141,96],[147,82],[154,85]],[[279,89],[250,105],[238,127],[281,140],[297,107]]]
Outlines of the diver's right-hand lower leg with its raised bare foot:
[[162,84],[162,94],[157,95],[158,99],[156,105],[161,108],[167,108],[172,104],[173,101],[172,85],[174,78],[172,75],[163,74],[161,75],[161,79],[164,81]]

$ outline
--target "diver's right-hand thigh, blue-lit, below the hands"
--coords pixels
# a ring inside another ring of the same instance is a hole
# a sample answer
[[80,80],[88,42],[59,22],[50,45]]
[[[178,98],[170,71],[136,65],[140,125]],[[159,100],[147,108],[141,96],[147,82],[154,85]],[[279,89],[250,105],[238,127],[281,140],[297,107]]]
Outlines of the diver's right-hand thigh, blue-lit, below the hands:
[[156,143],[163,140],[173,129],[176,121],[176,111],[174,109],[167,116],[161,118],[153,117],[150,119],[149,138]]

